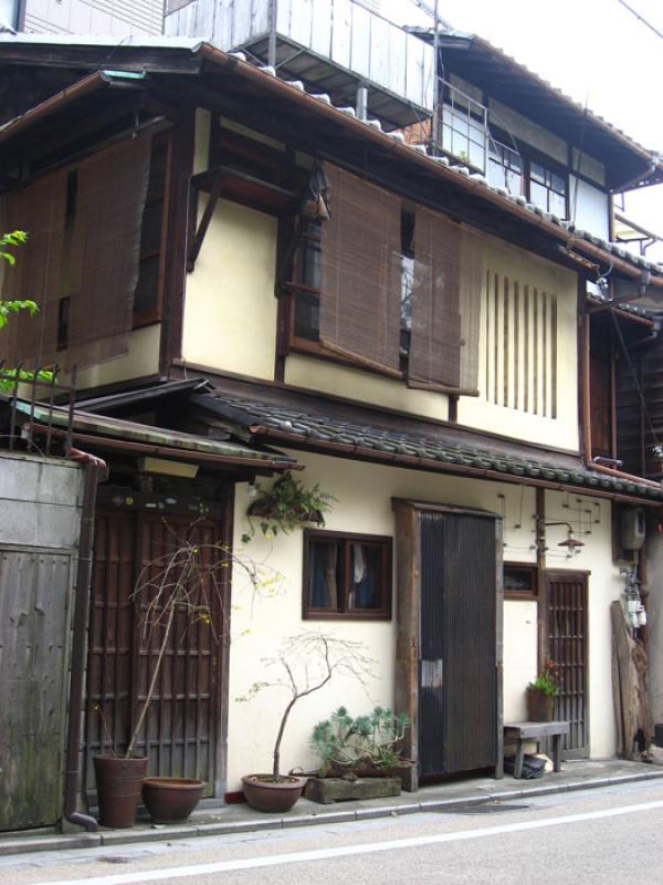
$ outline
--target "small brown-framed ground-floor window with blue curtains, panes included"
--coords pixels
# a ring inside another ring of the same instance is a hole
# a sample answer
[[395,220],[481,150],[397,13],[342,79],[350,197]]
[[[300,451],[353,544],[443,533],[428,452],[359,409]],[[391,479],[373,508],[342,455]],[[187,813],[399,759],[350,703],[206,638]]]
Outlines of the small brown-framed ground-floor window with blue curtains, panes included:
[[305,618],[391,617],[391,538],[304,533]]

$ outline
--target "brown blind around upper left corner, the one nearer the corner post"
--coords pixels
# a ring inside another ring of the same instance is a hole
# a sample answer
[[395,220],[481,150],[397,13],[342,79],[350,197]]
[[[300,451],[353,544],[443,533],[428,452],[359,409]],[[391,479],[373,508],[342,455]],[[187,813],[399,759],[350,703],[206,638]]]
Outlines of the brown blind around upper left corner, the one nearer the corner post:
[[78,166],[70,363],[94,365],[127,352],[150,140],[122,142]]

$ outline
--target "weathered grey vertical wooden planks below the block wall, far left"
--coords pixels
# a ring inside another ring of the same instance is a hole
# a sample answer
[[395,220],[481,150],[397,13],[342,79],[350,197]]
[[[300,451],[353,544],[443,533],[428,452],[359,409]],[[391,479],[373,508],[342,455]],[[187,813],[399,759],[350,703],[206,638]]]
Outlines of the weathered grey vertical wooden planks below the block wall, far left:
[[0,830],[61,815],[71,559],[0,550]]

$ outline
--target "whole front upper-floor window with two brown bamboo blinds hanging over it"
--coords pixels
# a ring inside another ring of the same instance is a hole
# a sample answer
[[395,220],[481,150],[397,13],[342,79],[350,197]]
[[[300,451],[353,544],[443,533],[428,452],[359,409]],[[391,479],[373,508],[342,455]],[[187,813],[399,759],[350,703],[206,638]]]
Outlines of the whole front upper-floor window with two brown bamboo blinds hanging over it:
[[474,392],[480,238],[336,167],[330,218],[304,221],[291,346],[401,378]]

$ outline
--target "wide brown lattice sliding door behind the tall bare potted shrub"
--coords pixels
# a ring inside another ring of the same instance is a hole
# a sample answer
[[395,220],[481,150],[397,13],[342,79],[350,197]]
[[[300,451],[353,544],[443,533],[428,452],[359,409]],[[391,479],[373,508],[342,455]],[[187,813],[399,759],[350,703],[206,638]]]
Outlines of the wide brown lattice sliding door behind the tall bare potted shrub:
[[[144,701],[162,633],[147,632],[158,618],[151,581],[169,554],[189,542],[213,544],[219,523],[189,516],[149,512],[97,512],[87,658],[85,723],[86,789],[93,789],[92,759],[99,752],[123,752]],[[140,577],[139,577],[140,576]],[[136,582],[141,585],[135,595]],[[200,778],[213,794],[217,723],[224,613],[219,594],[208,587],[212,623],[191,618],[180,608],[158,677],[156,694],[141,729],[137,754],[149,756],[151,775]]]

